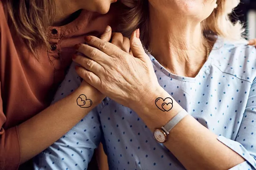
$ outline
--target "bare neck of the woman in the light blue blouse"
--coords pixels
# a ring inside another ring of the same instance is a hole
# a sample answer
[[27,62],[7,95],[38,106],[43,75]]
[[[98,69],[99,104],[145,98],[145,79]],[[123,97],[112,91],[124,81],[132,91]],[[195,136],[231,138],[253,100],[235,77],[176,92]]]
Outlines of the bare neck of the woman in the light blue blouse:
[[200,22],[149,8],[152,55],[171,73],[195,77],[207,56]]

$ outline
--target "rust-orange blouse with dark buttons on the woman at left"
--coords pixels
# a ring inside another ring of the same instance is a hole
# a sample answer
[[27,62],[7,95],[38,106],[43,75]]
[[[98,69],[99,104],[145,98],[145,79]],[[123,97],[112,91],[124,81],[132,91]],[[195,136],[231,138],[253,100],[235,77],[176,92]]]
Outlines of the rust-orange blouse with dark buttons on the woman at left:
[[48,107],[71,63],[73,46],[85,35],[98,36],[110,25],[112,14],[82,11],[73,22],[49,27],[52,49],[38,48],[37,61],[7,24],[0,0],[0,169],[18,169],[20,144],[17,125]]

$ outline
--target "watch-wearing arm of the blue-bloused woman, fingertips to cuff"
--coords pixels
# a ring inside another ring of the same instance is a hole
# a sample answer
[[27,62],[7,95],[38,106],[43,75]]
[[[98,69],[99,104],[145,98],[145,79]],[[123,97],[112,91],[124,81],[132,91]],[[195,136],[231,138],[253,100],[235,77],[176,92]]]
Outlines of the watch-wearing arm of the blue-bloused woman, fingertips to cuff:
[[[132,108],[151,131],[165,125],[181,111],[182,107],[159,86],[151,61],[139,40],[138,30],[131,37],[131,49],[135,57],[92,36],[87,39],[87,42],[98,49],[84,45],[80,46],[79,51],[99,63],[100,66],[95,64],[95,67],[88,67],[85,64],[88,70],[79,68],[77,70],[79,75],[103,94]],[[92,72],[95,75],[92,75]],[[108,74],[105,74],[106,72]],[[113,86],[116,87],[114,90],[111,89]],[[155,100],[158,97],[171,98],[174,101],[172,109],[163,112],[156,107]],[[255,113],[250,115],[256,118]],[[243,121],[246,123],[246,120]],[[247,138],[250,138],[249,142],[255,140],[253,137],[247,136]],[[238,142],[218,137],[191,116],[186,116],[171,130],[165,146],[186,169],[226,170],[232,167],[239,169],[235,167],[238,164],[242,169],[256,169],[256,161],[252,156],[255,151],[252,152],[253,150],[248,147],[246,150]]]

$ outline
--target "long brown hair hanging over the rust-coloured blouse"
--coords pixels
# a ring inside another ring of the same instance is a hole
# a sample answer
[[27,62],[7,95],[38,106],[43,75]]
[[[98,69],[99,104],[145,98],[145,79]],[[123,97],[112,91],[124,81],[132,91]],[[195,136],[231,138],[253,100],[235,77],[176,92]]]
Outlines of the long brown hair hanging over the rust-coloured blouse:
[[9,19],[28,49],[36,55],[36,47],[50,48],[47,28],[55,15],[54,0],[6,0]]

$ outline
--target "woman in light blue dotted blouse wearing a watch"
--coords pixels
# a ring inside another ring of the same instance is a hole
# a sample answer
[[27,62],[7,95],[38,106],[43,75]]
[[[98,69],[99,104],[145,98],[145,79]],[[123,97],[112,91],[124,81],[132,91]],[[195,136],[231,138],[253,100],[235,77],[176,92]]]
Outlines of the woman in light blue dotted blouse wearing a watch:
[[111,170],[256,170],[256,50],[227,19],[238,2],[121,2],[123,32],[140,28],[130,46],[121,34],[113,44],[85,37],[88,45],[75,47],[87,57],[73,57],[81,67],[71,65],[55,101],[79,87],[78,75],[108,97],[79,94],[78,107],[97,107],[35,168],[86,169],[102,141]]

